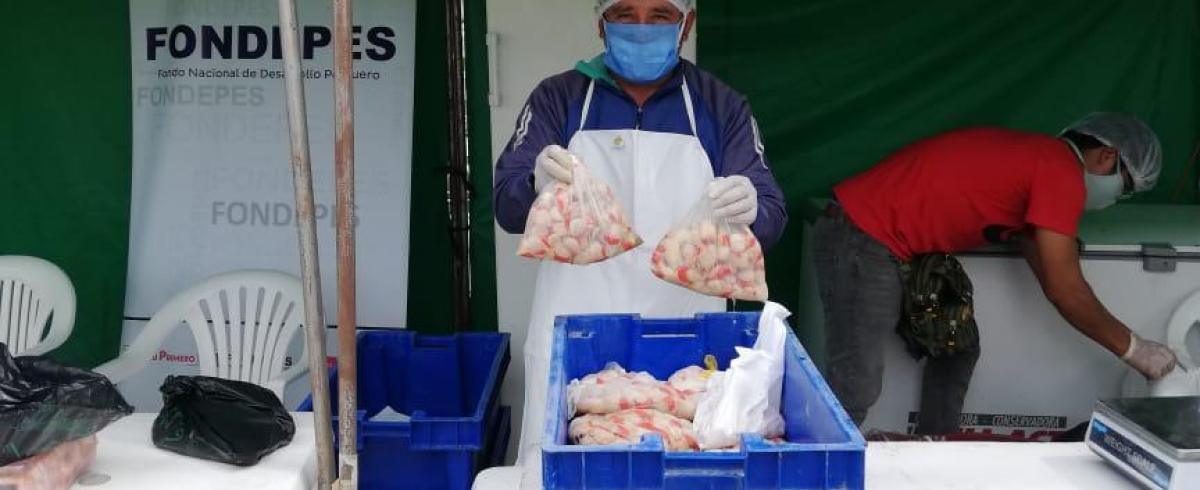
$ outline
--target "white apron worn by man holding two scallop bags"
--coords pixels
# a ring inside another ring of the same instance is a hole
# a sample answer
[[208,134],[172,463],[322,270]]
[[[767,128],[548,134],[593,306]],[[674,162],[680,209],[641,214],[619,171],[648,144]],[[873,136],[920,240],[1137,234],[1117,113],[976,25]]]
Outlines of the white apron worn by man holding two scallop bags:
[[524,417],[517,464],[523,489],[541,488],[541,435],[554,317],[576,313],[641,313],[647,317],[690,317],[725,311],[725,299],[671,285],[650,273],[650,253],[659,240],[701,198],[707,198],[713,166],[696,137],[696,116],[688,82],[684,106],[691,135],[642,130],[584,131],[595,82],[588,85],[580,130],[568,150],[604,179],[620,199],[634,231],[644,243],[617,257],[589,265],[545,261],[538,270],[529,331],[524,345]]

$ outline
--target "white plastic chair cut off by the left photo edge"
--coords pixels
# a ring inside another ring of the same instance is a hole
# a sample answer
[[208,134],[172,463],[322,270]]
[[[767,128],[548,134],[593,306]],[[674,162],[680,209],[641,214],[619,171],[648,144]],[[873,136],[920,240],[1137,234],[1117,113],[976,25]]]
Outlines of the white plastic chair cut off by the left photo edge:
[[74,328],[71,279],[37,257],[0,256],[0,342],[12,355],[42,355]]

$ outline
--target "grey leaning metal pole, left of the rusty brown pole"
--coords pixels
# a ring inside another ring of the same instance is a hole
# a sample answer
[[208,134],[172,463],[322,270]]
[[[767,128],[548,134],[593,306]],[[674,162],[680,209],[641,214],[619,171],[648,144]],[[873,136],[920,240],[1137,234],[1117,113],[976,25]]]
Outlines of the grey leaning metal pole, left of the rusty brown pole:
[[326,401],[329,371],[325,365],[325,311],[320,298],[320,269],[317,263],[317,219],[313,214],[312,163],[308,159],[308,112],[305,108],[304,79],[300,74],[295,0],[278,0],[278,4],[280,31],[283,36],[283,80],[288,92],[288,132],[292,136],[292,184],[295,189],[300,275],[304,282],[308,381],[312,383],[313,430],[317,432],[317,488],[324,490],[331,488],[334,482],[334,429]]

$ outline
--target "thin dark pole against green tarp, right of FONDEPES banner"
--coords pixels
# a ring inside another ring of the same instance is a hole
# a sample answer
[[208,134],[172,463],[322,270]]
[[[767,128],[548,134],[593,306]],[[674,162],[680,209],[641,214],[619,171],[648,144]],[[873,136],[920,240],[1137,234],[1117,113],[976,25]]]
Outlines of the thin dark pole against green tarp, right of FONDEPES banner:
[[467,162],[467,70],[462,0],[446,0],[450,166],[446,174],[455,330],[470,328],[470,166]]

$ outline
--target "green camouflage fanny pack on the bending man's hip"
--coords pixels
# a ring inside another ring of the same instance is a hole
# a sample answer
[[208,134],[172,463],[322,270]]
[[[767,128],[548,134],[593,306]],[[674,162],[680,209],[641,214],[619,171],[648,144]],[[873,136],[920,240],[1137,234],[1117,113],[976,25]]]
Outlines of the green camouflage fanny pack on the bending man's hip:
[[974,288],[954,256],[918,256],[900,264],[900,280],[904,304],[896,333],[913,358],[937,359],[979,347]]

